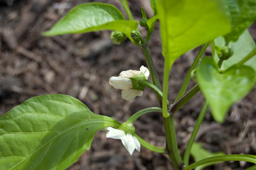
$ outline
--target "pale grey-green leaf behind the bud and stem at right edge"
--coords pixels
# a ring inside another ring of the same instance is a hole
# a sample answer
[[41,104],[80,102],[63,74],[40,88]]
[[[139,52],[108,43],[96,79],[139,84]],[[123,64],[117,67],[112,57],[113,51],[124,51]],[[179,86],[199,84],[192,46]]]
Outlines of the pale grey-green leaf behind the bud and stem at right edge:
[[[214,46],[219,46],[220,48],[224,47],[224,38],[222,36],[219,36],[214,39],[214,42],[211,44],[211,48],[213,49],[213,58],[216,62],[218,62],[219,59],[217,53],[214,51]],[[228,46],[233,49],[234,53],[229,59],[223,61],[221,69],[228,69],[230,66],[240,62],[256,47],[255,42],[253,41],[253,38],[249,34],[247,29],[237,39],[236,42],[230,42]],[[256,55],[253,56],[253,58],[249,59],[247,62],[245,62],[244,65],[252,67],[256,72]]]

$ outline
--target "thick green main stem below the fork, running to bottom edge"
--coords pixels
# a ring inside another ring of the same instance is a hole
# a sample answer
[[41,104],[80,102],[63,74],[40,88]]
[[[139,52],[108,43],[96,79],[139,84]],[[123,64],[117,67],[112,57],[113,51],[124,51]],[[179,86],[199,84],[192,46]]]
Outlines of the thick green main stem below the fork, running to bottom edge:
[[164,118],[164,130],[166,135],[167,142],[167,152],[168,156],[171,159],[171,162],[174,165],[176,170],[180,170],[184,163],[181,159],[181,155],[179,154],[175,126],[174,126],[174,115],[170,115],[167,118]]

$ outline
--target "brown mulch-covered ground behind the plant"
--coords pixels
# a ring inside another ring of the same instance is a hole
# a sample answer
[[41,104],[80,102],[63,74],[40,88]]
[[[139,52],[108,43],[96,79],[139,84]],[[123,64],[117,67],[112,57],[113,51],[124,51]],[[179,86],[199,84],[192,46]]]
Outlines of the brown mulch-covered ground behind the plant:
[[[143,6],[152,16],[149,0],[128,0],[135,20],[139,21]],[[0,115],[39,95],[65,94],[78,98],[95,114],[126,121],[135,112],[158,106],[153,92],[144,90],[142,97],[132,101],[121,98],[121,90],[108,83],[111,76],[123,70],[138,70],[146,66],[142,49],[126,40],[115,45],[111,31],[45,37],[49,30],[69,10],[92,0],[0,0]],[[121,10],[119,0],[95,0],[110,3]],[[9,5],[8,5],[9,4]],[[126,14],[125,14],[126,16]],[[143,28],[140,28],[145,35]],[[249,32],[256,40],[256,24]],[[162,82],[164,58],[161,55],[159,23],[149,43],[151,54]],[[187,71],[200,47],[181,56],[171,70],[169,100],[176,98]],[[207,49],[206,55],[210,55]],[[190,87],[194,82],[190,82]],[[210,112],[203,121],[196,141],[213,152],[256,155],[256,89],[230,109],[224,124],[216,123]],[[175,115],[177,142],[181,154],[196,123],[204,98],[199,93]],[[165,146],[161,114],[151,113],[135,122],[136,134],[145,141]],[[193,162],[191,157],[190,162]],[[243,170],[252,166],[246,162],[225,162],[207,170]],[[165,155],[144,147],[130,156],[115,139],[106,139],[105,132],[95,134],[90,150],[85,151],[69,170],[173,170]]]

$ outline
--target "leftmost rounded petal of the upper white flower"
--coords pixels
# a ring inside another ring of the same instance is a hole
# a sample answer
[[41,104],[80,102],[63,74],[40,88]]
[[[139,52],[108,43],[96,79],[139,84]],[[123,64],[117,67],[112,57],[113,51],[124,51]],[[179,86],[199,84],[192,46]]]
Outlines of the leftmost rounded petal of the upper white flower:
[[111,77],[109,78],[109,84],[117,89],[132,88],[131,79],[129,78]]

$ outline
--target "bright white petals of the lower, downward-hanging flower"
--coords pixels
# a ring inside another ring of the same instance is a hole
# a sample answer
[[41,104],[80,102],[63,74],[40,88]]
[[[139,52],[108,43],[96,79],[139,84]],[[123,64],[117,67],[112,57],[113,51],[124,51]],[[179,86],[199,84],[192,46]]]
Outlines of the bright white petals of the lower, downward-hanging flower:
[[123,145],[125,146],[126,150],[128,150],[130,155],[132,155],[135,149],[138,151],[141,150],[140,142],[138,141],[137,137],[132,136],[132,134],[125,134],[124,131],[120,129],[114,129],[112,127],[107,127],[105,129],[108,131],[106,137],[121,139]]

